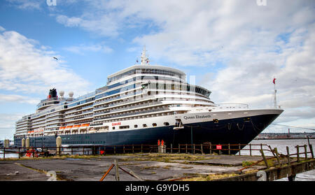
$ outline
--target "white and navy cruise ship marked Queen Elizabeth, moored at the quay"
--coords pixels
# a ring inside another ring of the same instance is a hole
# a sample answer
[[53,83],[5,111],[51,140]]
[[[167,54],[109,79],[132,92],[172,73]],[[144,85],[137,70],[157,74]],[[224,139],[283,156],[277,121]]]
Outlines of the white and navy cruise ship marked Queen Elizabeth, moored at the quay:
[[14,144],[29,138],[31,147],[55,147],[57,136],[63,145],[248,144],[283,112],[218,104],[210,94],[183,71],[151,65],[144,48],[141,62],[94,92],[73,98],[50,89],[36,113],[16,122]]

